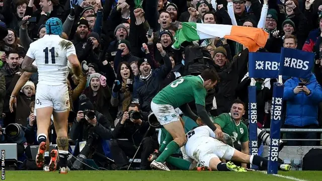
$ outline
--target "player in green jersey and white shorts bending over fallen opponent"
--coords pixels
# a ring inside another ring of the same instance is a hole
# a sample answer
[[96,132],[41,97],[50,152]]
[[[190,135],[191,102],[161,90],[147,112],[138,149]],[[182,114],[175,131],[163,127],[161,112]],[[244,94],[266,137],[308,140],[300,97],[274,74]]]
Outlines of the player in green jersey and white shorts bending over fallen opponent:
[[[206,69],[198,76],[188,75],[175,80],[152,99],[151,110],[158,122],[173,137],[173,141],[166,146],[164,151],[160,150],[163,152],[151,162],[151,167],[170,171],[164,162],[187,142],[182,119],[175,111],[176,108],[180,108],[186,116],[194,121],[202,120],[216,133],[218,139],[222,137],[222,132],[216,129],[205,109],[207,91],[212,89],[218,80],[218,74],[214,70]],[[188,106],[188,103],[193,101],[199,116],[195,115]]]

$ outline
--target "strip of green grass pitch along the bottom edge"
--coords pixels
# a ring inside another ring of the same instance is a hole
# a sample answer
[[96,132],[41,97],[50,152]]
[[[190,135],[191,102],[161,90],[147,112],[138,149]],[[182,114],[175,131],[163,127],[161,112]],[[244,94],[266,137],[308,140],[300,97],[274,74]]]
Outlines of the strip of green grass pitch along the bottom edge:
[[[279,175],[291,176],[307,181],[322,180],[322,171],[279,171]],[[70,171],[67,174],[58,174],[58,172],[44,171],[6,171],[5,180],[23,181],[105,181],[105,180],[131,180],[131,181],[187,181],[187,180],[222,180],[222,181],[239,181],[239,180],[296,180],[274,175],[267,175],[258,171],[248,172],[219,172],[219,171]]]

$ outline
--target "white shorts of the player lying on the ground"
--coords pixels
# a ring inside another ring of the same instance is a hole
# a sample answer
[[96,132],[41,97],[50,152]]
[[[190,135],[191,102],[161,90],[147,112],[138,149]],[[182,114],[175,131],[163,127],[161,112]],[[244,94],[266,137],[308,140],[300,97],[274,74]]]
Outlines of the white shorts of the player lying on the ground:
[[235,151],[235,148],[212,137],[202,137],[199,143],[188,141],[185,148],[189,157],[208,167],[211,158],[230,160]]

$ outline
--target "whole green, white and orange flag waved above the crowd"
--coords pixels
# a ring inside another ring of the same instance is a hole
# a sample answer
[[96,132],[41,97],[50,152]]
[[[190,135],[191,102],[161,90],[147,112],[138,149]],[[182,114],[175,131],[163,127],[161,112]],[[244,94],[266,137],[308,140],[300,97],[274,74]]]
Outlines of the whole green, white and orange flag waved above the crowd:
[[192,42],[208,38],[225,38],[245,45],[250,52],[256,52],[264,47],[268,33],[260,28],[250,28],[232,25],[182,23],[182,28],[176,32],[174,49],[180,49],[185,41]]

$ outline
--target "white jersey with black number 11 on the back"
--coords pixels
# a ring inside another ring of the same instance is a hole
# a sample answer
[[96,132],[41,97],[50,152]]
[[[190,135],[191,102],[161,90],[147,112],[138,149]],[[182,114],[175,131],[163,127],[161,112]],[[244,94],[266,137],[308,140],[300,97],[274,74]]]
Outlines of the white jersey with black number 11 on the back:
[[61,85],[67,82],[69,69],[67,57],[76,55],[74,45],[58,35],[45,35],[30,44],[28,57],[35,59],[38,83]]

